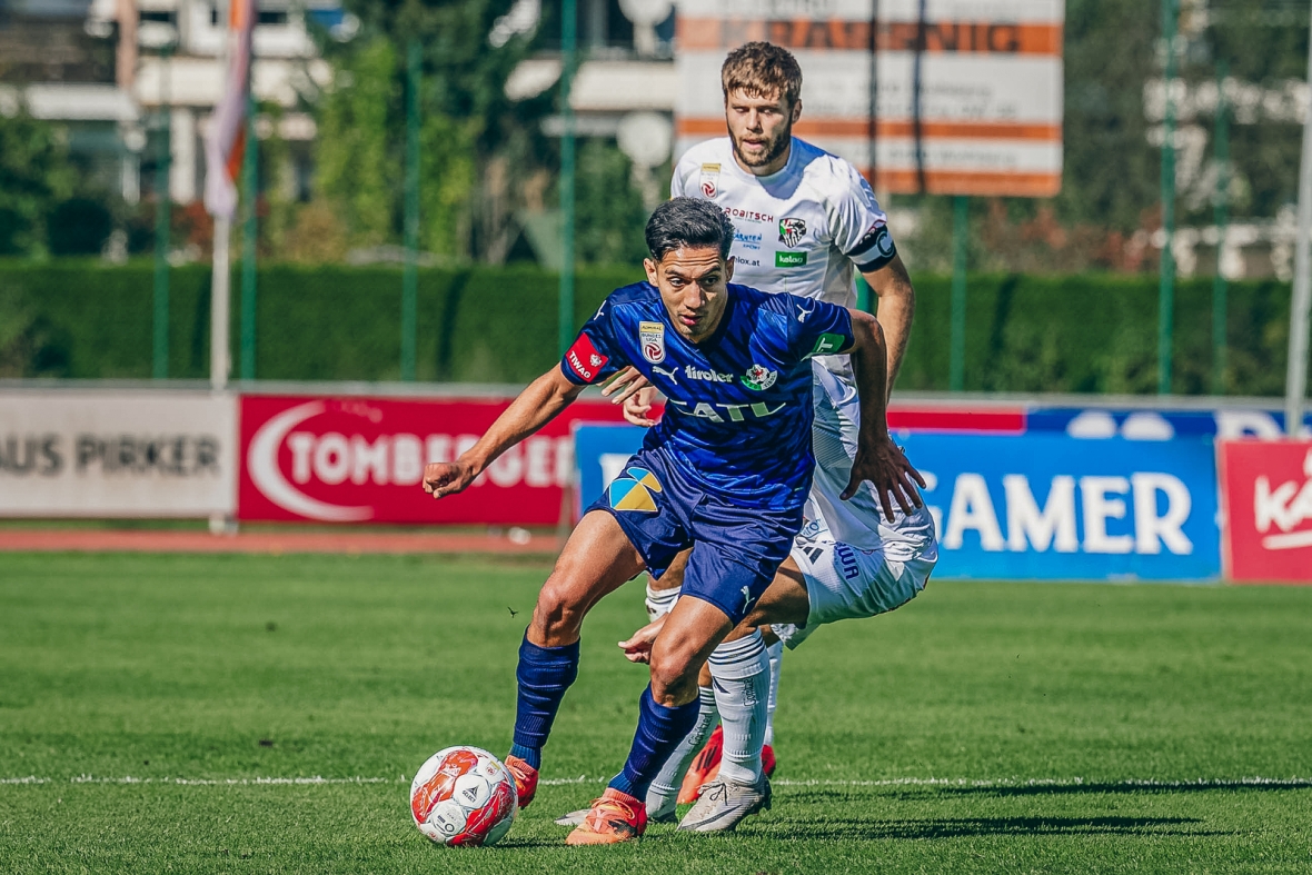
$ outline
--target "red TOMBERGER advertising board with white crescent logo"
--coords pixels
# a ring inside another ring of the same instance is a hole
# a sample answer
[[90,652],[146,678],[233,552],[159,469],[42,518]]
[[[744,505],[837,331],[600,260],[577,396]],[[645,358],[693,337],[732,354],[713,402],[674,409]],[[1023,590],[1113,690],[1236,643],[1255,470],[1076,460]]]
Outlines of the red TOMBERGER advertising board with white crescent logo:
[[573,476],[572,422],[615,422],[610,401],[576,401],[466,492],[434,501],[426,462],[471,446],[509,399],[241,397],[237,518],[546,526]]

